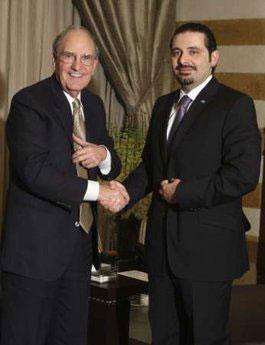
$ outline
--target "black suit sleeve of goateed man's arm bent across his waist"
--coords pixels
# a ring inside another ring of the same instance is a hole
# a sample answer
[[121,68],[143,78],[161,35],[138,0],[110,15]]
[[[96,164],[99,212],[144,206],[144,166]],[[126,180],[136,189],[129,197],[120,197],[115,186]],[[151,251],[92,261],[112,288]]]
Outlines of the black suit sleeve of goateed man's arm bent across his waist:
[[220,168],[178,185],[176,200],[180,209],[211,207],[242,197],[258,182],[260,159],[261,140],[254,104],[244,96],[227,114]]

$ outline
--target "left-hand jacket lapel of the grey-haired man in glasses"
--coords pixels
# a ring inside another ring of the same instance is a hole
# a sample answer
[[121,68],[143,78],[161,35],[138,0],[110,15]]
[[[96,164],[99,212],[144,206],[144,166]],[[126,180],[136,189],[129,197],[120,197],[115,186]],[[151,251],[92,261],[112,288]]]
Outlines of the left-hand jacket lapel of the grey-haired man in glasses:
[[53,103],[54,103],[54,117],[58,119],[61,126],[65,130],[65,133],[70,140],[71,144],[73,142],[72,133],[73,133],[73,117],[71,107],[63,93],[63,90],[56,80],[55,75],[51,77],[52,83],[52,94],[53,94]]

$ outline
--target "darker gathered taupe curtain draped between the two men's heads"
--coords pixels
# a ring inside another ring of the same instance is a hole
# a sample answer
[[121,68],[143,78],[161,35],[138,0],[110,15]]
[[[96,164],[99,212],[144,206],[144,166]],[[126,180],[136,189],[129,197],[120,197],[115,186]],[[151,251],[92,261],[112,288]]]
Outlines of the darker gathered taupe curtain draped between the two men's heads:
[[131,124],[146,127],[154,99],[165,87],[171,87],[172,79],[165,79],[168,72],[164,74],[164,67],[169,67],[168,45],[175,27],[176,0],[73,3],[96,37],[106,75]]

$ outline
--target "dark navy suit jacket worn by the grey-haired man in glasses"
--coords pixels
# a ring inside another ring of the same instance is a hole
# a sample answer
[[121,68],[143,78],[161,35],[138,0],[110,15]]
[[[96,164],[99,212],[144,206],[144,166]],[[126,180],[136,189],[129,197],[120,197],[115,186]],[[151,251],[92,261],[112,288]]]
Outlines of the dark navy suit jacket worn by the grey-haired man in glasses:
[[[87,140],[105,145],[112,167],[104,179],[120,172],[120,160],[106,129],[101,99],[81,93]],[[18,92],[6,125],[10,150],[2,269],[32,278],[56,279],[66,268],[75,244],[78,207],[86,180],[77,177],[71,161],[72,113],[56,78]],[[98,168],[89,170],[96,180]],[[95,203],[91,203],[95,213]],[[95,224],[92,227],[96,247]]]

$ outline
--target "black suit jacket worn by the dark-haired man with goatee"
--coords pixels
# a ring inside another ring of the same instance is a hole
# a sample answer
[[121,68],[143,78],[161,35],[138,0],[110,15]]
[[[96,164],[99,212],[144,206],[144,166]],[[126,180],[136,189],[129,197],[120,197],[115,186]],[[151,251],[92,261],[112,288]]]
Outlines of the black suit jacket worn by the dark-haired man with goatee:
[[[229,280],[248,268],[242,196],[258,182],[261,144],[253,101],[212,79],[167,148],[176,93],[153,109],[142,163],[126,179],[133,205],[153,191],[146,235],[149,273],[170,267],[182,278]],[[177,177],[177,203],[159,197],[161,180]]]

